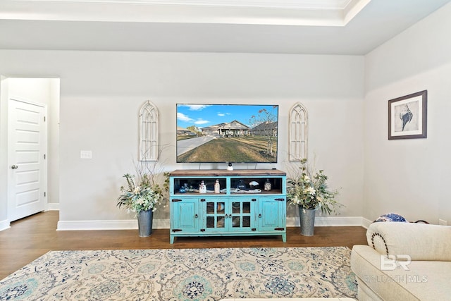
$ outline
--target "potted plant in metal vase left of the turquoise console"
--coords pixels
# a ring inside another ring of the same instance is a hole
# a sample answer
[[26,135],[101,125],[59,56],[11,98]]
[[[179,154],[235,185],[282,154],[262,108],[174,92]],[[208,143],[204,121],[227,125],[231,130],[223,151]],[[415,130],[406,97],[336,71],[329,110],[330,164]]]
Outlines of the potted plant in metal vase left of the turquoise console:
[[121,195],[118,197],[118,207],[125,207],[128,211],[136,213],[140,237],[152,235],[153,213],[165,201],[168,191],[168,174],[163,187],[155,181],[153,174],[140,174],[135,183],[135,176],[128,173],[124,175],[127,186],[121,186]]

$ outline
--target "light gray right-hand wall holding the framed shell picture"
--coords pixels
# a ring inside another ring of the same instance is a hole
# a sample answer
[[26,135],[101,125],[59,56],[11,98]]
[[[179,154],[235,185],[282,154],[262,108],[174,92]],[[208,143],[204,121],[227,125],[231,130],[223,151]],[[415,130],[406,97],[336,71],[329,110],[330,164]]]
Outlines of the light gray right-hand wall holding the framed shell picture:
[[[365,57],[364,216],[451,223],[451,4]],[[428,137],[388,140],[388,100],[428,90]]]

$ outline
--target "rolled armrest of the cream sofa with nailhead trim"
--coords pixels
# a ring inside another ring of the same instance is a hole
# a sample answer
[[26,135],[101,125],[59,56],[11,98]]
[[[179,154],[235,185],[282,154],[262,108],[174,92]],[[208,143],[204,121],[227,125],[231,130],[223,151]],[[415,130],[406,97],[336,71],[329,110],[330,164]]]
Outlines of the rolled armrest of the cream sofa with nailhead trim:
[[451,261],[451,227],[425,223],[377,222],[366,231],[368,245],[385,255],[412,260]]

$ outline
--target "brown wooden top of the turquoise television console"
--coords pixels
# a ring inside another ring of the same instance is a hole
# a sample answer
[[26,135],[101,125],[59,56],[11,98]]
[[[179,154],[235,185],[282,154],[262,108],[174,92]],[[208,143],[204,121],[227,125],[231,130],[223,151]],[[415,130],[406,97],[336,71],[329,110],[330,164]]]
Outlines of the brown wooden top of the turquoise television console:
[[278,169],[235,169],[228,171],[226,169],[177,169],[170,173],[170,176],[189,177],[189,176],[286,176],[285,171]]

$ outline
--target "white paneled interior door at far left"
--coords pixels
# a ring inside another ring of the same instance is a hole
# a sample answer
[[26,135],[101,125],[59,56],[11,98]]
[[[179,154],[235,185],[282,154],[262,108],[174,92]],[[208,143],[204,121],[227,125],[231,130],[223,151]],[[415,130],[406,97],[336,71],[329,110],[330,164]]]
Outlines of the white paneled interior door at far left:
[[8,99],[8,219],[44,211],[47,200],[47,106]]

